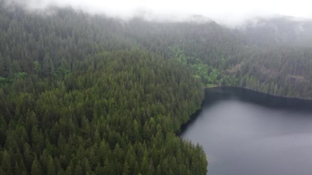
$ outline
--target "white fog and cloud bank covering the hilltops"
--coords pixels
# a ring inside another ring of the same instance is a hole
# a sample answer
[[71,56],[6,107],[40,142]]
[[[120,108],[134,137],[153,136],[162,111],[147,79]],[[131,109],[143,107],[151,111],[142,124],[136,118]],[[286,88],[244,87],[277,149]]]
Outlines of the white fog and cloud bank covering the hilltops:
[[203,15],[219,24],[240,25],[252,17],[271,17],[287,15],[300,18],[312,18],[311,4],[306,0],[12,0],[25,3],[28,9],[45,9],[49,6],[81,9],[91,14],[106,14],[112,17],[130,19],[143,15],[153,20],[185,20],[191,15]]

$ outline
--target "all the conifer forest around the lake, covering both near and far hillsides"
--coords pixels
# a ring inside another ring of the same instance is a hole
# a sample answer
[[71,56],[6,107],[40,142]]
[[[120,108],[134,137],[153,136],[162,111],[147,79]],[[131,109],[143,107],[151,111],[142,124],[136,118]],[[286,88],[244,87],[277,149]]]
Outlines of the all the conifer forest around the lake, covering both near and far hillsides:
[[257,40],[263,29],[248,25],[0,1],[0,174],[205,174],[203,148],[175,136],[204,88],[312,98],[304,25],[295,38],[265,28]]

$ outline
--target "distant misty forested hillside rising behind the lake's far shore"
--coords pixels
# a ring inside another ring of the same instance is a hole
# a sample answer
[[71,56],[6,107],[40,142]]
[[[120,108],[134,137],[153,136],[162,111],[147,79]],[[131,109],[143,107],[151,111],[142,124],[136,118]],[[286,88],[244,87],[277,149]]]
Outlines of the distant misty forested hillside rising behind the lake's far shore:
[[311,99],[311,26],[312,21],[296,22],[287,17],[262,19],[237,29],[214,22],[133,19],[126,32],[151,51],[179,58],[207,86],[243,86]]

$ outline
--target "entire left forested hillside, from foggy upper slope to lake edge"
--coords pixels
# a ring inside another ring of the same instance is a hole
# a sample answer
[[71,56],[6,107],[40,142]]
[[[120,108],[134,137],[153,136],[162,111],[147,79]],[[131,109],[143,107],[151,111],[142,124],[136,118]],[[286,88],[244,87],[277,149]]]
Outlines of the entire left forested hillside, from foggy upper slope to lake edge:
[[175,136],[203,86],[120,24],[71,9],[1,8],[0,174],[205,174]]

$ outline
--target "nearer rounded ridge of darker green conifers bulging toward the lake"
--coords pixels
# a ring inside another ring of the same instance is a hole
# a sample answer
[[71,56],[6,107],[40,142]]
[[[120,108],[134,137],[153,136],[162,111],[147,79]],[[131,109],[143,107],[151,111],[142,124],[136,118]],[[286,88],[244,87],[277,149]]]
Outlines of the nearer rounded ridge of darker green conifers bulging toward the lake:
[[[11,125],[1,135],[5,173],[14,170],[12,145],[21,147],[16,159],[25,162],[15,169],[30,174],[156,174],[157,167],[206,173],[204,152],[173,134],[204,95],[201,81],[180,62],[133,47],[86,57],[66,76],[49,71],[42,78],[18,73],[4,94],[4,107],[14,108],[2,119],[3,127]],[[176,150],[185,159],[175,160]],[[189,164],[198,158],[202,163]]]

